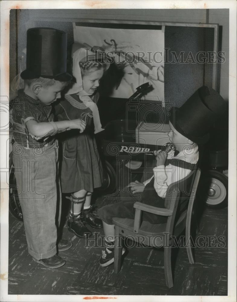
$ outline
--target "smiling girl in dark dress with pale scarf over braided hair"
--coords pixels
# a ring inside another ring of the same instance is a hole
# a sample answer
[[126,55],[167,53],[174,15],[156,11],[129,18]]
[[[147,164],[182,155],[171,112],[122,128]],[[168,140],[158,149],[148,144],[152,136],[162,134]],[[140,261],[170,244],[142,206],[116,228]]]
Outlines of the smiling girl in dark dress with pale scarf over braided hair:
[[[102,184],[103,170],[94,133],[102,131],[96,91],[109,63],[100,63],[100,54],[80,48],[73,54],[73,76],[76,83],[55,106],[58,120],[80,118],[86,122],[83,133],[67,132],[61,137],[62,193],[71,201],[68,230],[78,237],[90,236],[86,223],[101,228],[102,221],[92,213],[91,195]],[[92,122],[93,121],[93,122]],[[94,124],[94,127],[93,127]]]

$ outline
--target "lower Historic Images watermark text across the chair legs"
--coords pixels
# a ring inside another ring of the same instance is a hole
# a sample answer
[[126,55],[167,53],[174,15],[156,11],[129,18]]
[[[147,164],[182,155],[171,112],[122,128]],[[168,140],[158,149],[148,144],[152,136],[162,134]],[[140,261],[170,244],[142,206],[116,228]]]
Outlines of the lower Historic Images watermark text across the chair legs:
[[[122,236],[115,236],[111,238],[107,238],[107,240],[114,241],[117,246],[121,246]],[[105,236],[101,236],[100,233],[95,232],[91,237],[85,239],[84,247],[104,247],[104,239]],[[150,248],[151,246],[159,247],[171,247],[171,248],[224,248],[226,247],[226,237],[223,235],[216,236],[203,236],[199,235],[197,237],[190,236],[186,238],[181,235],[176,237],[171,235],[168,232],[164,232],[159,236],[142,236],[142,235],[134,235],[134,236],[126,236],[126,240],[124,240],[124,246],[127,248]]]

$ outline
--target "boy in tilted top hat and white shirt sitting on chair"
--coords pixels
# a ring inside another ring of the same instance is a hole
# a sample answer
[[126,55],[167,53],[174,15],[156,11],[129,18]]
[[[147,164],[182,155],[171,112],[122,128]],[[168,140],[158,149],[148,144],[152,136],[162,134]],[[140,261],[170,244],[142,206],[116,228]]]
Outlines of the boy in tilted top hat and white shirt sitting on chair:
[[[227,103],[212,88],[203,86],[192,95],[181,108],[175,111],[169,121],[168,138],[175,150],[161,152],[156,156],[156,167],[152,178],[143,183],[128,185],[130,192],[121,194],[122,201],[98,209],[104,227],[106,249],[102,252],[100,265],[105,267],[114,262],[114,225],[112,218],[134,219],[133,204],[136,201],[155,207],[165,207],[168,186],[185,178],[196,169],[199,159],[198,145],[207,142],[208,131],[213,122],[226,110]],[[177,154],[178,153],[178,154]],[[172,159],[172,160],[171,160]],[[141,193],[141,195],[139,195]],[[182,206],[180,204],[179,213]],[[143,212],[143,220],[150,223],[165,223],[167,217]],[[122,254],[125,252],[123,249]]]

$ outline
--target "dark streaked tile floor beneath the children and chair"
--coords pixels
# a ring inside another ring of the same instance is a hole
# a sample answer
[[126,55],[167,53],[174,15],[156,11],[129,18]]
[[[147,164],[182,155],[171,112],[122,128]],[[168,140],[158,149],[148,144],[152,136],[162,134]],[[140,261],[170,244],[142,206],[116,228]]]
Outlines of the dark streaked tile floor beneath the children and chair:
[[[95,202],[101,207],[113,200],[101,196]],[[85,239],[69,233],[64,226],[62,237],[73,242],[71,249],[60,253],[66,264],[57,269],[45,268],[32,261],[27,252],[23,223],[9,214],[8,294],[227,295],[227,213],[228,208],[205,208],[196,235],[224,236],[224,247],[211,247],[214,243],[210,243],[195,248],[196,263],[193,265],[188,262],[185,248],[172,249],[175,269],[171,289],[165,285],[162,249],[127,248],[118,274],[114,274],[113,265],[100,267],[101,245],[104,244],[100,238],[102,229],[94,229],[99,232],[98,240],[85,246]],[[203,241],[200,238],[200,244]],[[132,242],[127,243],[131,246]]]

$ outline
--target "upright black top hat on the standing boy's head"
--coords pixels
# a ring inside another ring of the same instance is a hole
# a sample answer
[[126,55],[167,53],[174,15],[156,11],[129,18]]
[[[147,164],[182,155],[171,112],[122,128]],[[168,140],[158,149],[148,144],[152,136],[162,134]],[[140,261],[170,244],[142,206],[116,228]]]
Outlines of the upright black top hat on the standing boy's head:
[[70,81],[67,70],[67,34],[48,27],[35,27],[27,31],[26,70],[22,79],[39,77]]

